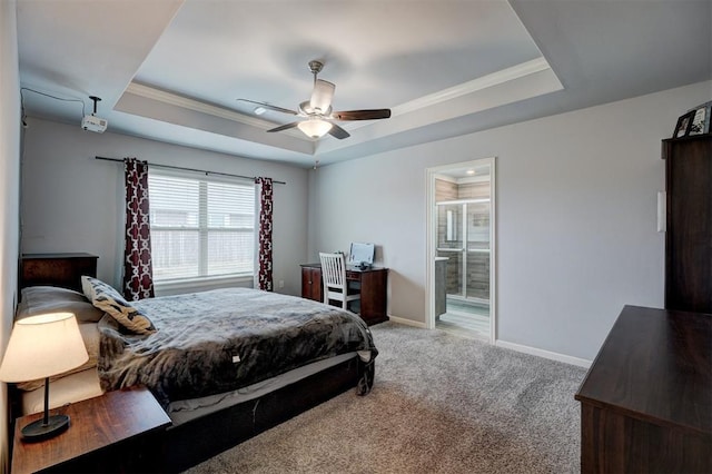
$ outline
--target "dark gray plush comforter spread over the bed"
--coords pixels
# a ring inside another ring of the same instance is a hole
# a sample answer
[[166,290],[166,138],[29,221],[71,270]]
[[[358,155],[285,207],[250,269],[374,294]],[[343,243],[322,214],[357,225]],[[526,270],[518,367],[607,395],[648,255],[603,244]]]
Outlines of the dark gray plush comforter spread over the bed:
[[132,305],[158,330],[127,334],[105,315],[99,322],[101,386],[112,391],[145,385],[164,406],[240,388],[339,354],[366,350],[369,364],[378,354],[358,316],[293,296],[230,288]]

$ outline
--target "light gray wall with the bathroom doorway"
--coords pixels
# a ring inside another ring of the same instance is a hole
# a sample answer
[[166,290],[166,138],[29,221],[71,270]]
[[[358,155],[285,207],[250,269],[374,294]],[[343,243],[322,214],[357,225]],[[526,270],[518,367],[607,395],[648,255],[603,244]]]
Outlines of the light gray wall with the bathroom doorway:
[[661,139],[710,82],[318,168],[309,257],[380,246],[389,314],[425,324],[426,168],[496,157],[497,339],[592,359],[625,304],[663,305]]

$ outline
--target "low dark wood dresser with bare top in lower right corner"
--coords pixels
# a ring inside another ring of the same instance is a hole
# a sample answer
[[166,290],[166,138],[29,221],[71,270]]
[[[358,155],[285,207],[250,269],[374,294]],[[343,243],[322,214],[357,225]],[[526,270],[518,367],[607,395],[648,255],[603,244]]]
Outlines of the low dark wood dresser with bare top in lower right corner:
[[575,398],[583,473],[712,472],[712,315],[625,306]]

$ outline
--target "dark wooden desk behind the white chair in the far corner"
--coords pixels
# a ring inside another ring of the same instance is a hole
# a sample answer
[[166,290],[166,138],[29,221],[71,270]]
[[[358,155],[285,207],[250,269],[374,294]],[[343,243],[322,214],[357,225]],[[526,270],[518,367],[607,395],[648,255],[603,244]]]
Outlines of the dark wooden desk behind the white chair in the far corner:
[[[360,285],[359,316],[368,324],[388,320],[387,292],[388,269],[367,268],[347,269],[346,279]],[[322,279],[322,264],[301,265],[301,297],[324,302],[324,280]]]

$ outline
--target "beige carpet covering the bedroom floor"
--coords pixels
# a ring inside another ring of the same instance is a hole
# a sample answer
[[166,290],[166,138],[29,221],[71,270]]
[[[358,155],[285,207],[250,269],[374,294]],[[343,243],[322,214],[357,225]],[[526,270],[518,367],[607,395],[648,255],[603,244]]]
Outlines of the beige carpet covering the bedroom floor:
[[189,473],[574,473],[580,367],[438,330],[372,327],[373,392],[352,391]]

